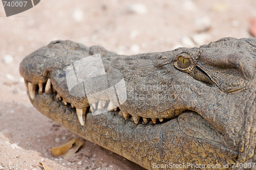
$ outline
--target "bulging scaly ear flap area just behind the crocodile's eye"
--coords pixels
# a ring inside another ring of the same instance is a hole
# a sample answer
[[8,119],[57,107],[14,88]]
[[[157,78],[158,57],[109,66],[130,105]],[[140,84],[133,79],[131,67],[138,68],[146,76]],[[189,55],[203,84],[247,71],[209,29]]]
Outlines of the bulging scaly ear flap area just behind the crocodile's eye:
[[256,61],[250,54],[202,54],[200,60],[202,69],[225,92],[243,89],[255,75]]

